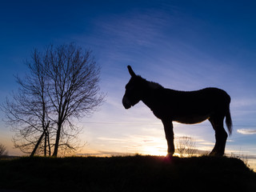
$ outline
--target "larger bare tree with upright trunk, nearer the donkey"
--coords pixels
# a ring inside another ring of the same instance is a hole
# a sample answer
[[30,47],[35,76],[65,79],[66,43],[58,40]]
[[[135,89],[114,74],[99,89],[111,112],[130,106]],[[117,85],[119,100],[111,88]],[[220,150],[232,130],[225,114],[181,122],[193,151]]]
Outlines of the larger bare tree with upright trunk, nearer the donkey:
[[[102,102],[103,95],[98,95],[100,69],[90,50],[84,52],[74,44],[56,49],[50,46],[43,58],[50,78],[48,95],[57,124],[53,154],[57,156],[61,135],[67,134],[67,129],[75,130],[72,118],[91,114]],[[66,146],[71,149],[68,143]]]

